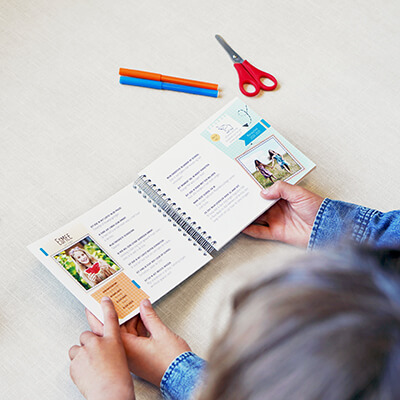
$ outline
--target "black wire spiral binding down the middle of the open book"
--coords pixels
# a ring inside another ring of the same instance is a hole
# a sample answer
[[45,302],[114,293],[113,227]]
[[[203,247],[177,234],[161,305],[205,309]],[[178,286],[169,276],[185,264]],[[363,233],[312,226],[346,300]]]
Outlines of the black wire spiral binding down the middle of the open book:
[[[176,206],[169,197],[166,197],[165,193],[161,193],[161,189],[157,188],[157,185],[151,184],[151,179],[146,179],[146,175],[141,175],[133,185],[134,189],[137,189],[139,193],[143,191],[144,197],[149,197],[149,202],[153,201],[154,207],[159,207],[159,211],[163,211],[164,217],[169,217],[173,221],[174,225],[178,225],[178,230],[184,231],[184,236],[188,235],[188,240],[193,239],[194,244],[199,245],[199,250],[203,249],[208,254],[213,255],[217,250],[214,245],[215,241],[211,241],[211,236],[205,236],[207,232],[201,232],[201,227],[196,227],[196,222],[187,216],[185,212],[182,211],[180,207]],[[207,254],[205,253],[205,254]]]

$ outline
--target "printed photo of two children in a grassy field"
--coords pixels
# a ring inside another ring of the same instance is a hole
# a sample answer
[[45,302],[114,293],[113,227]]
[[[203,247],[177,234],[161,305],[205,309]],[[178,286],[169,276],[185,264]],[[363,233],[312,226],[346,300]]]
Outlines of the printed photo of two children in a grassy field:
[[303,169],[275,136],[241,154],[236,161],[262,188],[277,180],[286,181]]

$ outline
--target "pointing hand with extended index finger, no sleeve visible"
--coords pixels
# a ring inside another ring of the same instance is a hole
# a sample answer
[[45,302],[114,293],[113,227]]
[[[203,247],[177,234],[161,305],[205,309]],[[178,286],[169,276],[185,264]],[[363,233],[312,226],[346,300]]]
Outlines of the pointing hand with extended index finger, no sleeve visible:
[[90,331],[80,336],[80,346],[69,350],[71,378],[89,400],[135,398],[117,313],[111,300],[101,302],[104,334]]

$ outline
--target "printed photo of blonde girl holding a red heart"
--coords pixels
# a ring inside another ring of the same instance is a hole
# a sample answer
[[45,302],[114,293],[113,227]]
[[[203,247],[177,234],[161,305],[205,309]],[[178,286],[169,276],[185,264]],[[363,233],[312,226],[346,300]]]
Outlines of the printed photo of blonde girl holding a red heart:
[[119,270],[119,267],[89,236],[54,258],[86,290]]

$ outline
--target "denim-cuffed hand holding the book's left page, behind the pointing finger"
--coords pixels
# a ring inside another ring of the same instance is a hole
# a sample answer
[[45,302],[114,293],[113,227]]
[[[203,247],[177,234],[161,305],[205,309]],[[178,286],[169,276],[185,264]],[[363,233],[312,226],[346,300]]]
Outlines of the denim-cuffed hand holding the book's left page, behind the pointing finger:
[[[93,332],[102,335],[103,324],[88,310],[86,316]],[[140,317],[121,326],[121,337],[131,372],[156,386],[171,362],[190,351],[188,344],[162,323],[148,300],[140,304]]]

